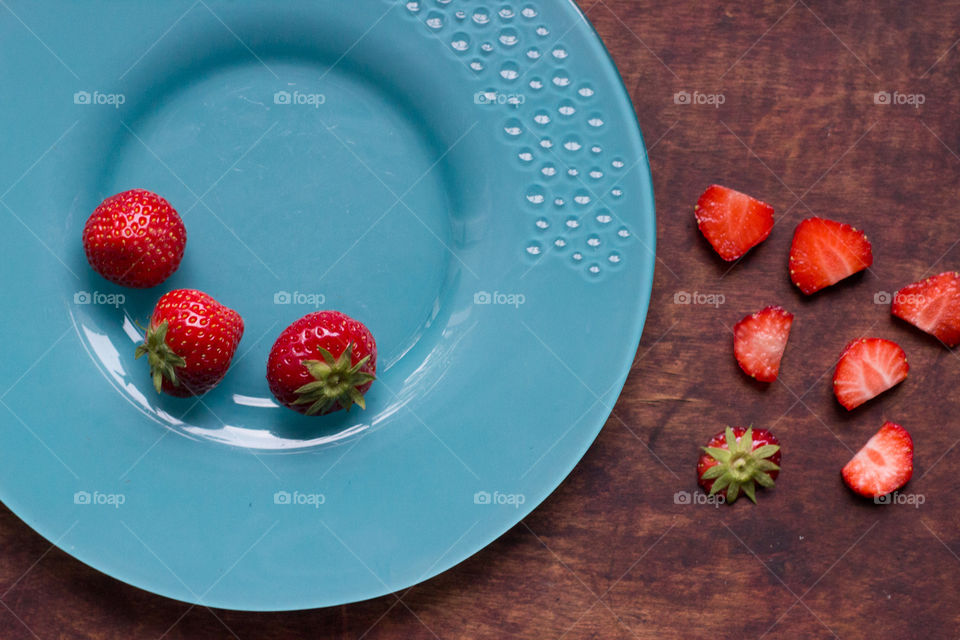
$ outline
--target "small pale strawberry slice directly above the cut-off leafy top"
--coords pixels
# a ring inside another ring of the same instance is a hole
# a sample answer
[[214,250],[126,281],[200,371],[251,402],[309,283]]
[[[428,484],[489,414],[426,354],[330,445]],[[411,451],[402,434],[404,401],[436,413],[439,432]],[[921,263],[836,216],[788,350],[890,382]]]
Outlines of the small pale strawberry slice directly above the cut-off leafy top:
[[744,373],[760,382],[777,379],[791,325],[793,314],[777,306],[751,313],[734,325],[733,355]]

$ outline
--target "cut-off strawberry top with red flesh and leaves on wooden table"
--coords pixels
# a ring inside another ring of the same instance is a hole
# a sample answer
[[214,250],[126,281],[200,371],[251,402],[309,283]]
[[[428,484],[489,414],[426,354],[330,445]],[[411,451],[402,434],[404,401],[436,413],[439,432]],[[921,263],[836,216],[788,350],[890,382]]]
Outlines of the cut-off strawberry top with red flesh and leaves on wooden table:
[[713,495],[726,489],[727,502],[740,491],[756,502],[756,485],[772,487],[780,473],[780,441],[766,429],[727,427],[717,433],[697,461],[697,478]]

